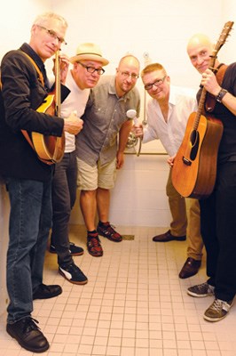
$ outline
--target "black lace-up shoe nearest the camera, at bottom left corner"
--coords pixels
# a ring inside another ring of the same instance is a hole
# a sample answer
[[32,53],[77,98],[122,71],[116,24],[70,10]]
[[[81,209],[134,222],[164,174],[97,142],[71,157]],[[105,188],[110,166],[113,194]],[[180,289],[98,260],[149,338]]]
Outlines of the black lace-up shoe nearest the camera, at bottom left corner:
[[42,331],[36,326],[37,320],[27,317],[6,325],[6,331],[24,349],[31,352],[45,352],[49,349],[49,343]]

